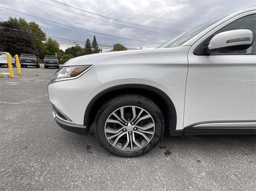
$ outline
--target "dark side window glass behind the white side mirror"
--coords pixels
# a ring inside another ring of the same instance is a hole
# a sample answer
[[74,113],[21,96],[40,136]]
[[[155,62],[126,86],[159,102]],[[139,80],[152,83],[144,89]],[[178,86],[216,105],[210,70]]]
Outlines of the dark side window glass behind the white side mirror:
[[230,31],[230,30],[238,30],[238,29],[248,29],[252,31],[253,34],[253,43],[252,45],[238,53],[244,53],[244,54],[256,54],[256,14],[252,14],[252,15],[248,15],[245,17],[242,17],[230,24],[228,24],[227,26],[223,27],[222,29],[218,30],[216,33],[214,33],[214,35],[221,33],[221,32],[225,32],[225,31]]

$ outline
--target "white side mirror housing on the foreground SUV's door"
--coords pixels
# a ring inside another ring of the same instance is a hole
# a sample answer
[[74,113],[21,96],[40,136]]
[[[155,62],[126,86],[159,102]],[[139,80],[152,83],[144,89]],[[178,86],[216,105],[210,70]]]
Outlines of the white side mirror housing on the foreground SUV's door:
[[209,42],[204,51],[208,54],[219,52],[224,54],[238,53],[252,45],[252,31],[247,29],[231,30],[218,33]]

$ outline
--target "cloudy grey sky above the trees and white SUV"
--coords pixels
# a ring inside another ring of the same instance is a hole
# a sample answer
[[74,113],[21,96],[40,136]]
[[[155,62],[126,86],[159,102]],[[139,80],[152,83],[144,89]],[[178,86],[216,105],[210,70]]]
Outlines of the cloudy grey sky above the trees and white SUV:
[[[254,0],[56,0],[63,4],[54,2],[53,0],[39,1],[41,2],[36,0],[1,0],[0,6],[82,30],[33,18],[18,12],[6,10],[5,8],[0,8],[0,20],[5,21],[9,16],[22,17],[27,21],[37,22],[47,35],[77,41],[85,41],[87,38],[92,41],[93,36],[96,35],[99,44],[113,45],[114,43],[121,43],[126,47],[135,48],[139,48],[140,46],[147,48],[157,47],[160,44],[142,41],[163,43],[176,37],[177,33],[180,33],[179,31],[186,31],[219,16],[256,6],[256,1]],[[72,12],[68,12],[67,10]],[[133,25],[104,18],[82,10],[130,22]],[[146,27],[138,26],[138,24]],[[156,28],[162,29],[156,30]],[[92,32],[86,32],[84,30]],[[110,37],[97,33],[134,40]],[[62,49],[70,46],[65,44],[60,45]]]

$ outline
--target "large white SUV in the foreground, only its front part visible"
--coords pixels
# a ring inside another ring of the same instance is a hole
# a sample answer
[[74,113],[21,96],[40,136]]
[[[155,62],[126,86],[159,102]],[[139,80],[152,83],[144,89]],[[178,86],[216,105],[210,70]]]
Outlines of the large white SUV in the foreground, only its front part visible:
[[255,134],[256,8],[206,22],[156,49],[70,59],[50,81],[62,128],[139,156],[170,135]]

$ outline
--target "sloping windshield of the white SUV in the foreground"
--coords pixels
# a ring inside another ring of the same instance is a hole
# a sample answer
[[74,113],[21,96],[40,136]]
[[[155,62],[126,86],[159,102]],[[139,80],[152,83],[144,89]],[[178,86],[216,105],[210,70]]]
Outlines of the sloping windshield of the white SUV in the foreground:
[[218,22],[219,20],[222,20],[226,16],[227,15],[216,18],[214,20],[210,20],[203,24],[200,24],[199,26],[186,31],[186,32],[182,33],[181,35],[178,35],[177,37],[170,39],[169,41],[167,41],[166,43],[163,43],[162,45],[160,45],[157,48],[172,48],[172,47],[180,46],[183,43],[185,43],[186,41],[188,41],[189,39],[191,39],[192,37],[194,37],[195,35],[197,35],[198,33],[202,32],[203,30],[208,28],[209,26],[213,25],[214,23]]

